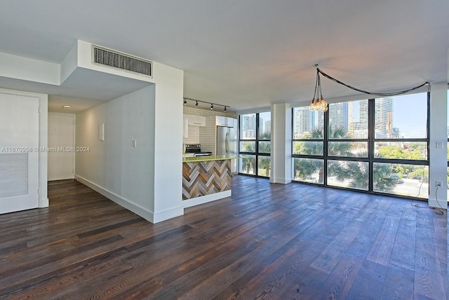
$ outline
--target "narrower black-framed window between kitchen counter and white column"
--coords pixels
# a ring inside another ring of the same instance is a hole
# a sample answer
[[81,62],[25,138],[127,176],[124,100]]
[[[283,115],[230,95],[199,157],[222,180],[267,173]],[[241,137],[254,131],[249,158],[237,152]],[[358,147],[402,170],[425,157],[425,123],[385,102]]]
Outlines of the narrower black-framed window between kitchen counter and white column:
[[239,172],[269,177],[271,172],[272,114],[264,111],[239,116]]

